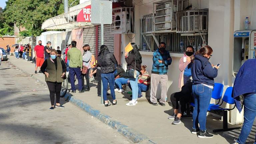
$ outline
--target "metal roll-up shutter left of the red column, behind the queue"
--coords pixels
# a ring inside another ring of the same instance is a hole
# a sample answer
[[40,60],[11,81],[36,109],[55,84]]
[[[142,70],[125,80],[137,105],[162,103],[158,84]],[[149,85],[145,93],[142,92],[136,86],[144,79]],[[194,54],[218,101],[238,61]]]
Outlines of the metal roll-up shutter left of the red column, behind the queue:
[[95,26],[84,28],[84,45],[88,44],[91,48],[91,53],[96,56],[96,29]]

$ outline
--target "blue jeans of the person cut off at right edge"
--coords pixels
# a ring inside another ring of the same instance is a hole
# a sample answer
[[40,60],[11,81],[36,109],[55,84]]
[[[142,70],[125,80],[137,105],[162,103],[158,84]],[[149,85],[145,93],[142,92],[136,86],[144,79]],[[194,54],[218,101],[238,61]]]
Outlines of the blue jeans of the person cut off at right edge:
[[[249,136],[253,121],[256,117],[256,93],[246,95],[244,97],[244,124],[241,133],[236,141],[239,144],[244,144]],[[254,142],[256,144],[256,141]]]

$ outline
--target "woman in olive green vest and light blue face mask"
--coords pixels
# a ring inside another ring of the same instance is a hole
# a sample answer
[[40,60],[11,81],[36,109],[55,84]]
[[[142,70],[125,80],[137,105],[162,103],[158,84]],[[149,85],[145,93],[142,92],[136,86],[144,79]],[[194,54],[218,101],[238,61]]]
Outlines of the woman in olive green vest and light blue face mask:
[[[60,91],[61,84],[64,81],[63,77],[67,67],[60,57],[57,57],[57,51],[51,50],[50,57],[47,58],[41,66],[41,71],[45,74],[45,81],[50,91],[51,107],[49,110],[54,108],[65,108],[60,105]],[[56,95],[56,106],[54,107],[54,98]]]

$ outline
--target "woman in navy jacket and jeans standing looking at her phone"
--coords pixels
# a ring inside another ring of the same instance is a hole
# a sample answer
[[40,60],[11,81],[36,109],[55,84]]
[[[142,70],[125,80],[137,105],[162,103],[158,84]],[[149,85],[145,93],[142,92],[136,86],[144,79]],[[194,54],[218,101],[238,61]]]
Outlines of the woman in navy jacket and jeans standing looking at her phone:
[[219,67],[211,65],[209,62],[212,53],[213,50],[208,45],[198,50],[191,69],[193,78],[192,94],[195,99],[192,134],[198,134],[199,138],[213,137],[206,130],[207,109],[212,96],[214,78],[217,77],[219,69]]

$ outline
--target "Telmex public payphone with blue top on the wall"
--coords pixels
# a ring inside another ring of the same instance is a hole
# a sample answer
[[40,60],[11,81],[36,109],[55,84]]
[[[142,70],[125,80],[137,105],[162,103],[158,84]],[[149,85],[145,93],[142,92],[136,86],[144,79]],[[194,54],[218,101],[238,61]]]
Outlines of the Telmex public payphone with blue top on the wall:
[[255,58],[256,30],[238,30],[234,32],[233,77],[236,76],[242,64]]

